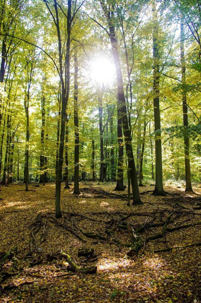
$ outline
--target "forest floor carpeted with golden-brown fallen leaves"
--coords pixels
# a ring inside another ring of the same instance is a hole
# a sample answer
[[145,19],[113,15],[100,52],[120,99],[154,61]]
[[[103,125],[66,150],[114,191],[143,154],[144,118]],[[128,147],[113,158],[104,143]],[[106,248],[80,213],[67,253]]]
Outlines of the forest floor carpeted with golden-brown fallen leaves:
[[[1,186],[0,302],[201,302],[201,188],[155,197],[147,185],[143,205],[129,207],[115,183],[81,182],[78,196],[62,188],[55,221],[55,184],[36,186]],[[132,228],[143,245],[128,257]],[[89,253],[78,257],[78,248]]]

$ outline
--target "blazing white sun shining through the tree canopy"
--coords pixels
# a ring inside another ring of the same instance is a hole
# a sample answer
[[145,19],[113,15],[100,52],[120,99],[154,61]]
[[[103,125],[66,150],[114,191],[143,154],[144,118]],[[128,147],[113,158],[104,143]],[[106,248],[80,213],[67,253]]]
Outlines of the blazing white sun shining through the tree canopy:
[[98,58],[91,62],[91,79],[97,84],[110,84],[115,79],[115,67],[108,59]]

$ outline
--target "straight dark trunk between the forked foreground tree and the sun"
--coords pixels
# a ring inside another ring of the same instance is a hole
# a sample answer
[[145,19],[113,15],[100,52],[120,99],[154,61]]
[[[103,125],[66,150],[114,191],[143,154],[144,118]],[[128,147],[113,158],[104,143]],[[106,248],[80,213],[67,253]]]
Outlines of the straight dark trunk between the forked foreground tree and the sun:
[[75,132],[75,154],[74,154],[74,194],[79,195],[79,124],[78,124],[78,64],[77,53],[74,54],[74,132]]

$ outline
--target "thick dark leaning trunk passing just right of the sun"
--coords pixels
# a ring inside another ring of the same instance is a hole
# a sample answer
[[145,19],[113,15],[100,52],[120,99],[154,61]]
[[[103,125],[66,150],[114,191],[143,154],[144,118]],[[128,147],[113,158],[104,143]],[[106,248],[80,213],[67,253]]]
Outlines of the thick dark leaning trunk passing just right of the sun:
[[112,54],[114,58],[114,64],[116,68],[116,74],[117,74],[117,111],[119,109],[121,118],[122,118],[122,125],[124,130],[124,142],[127,152],[128,160],[130,161],[130,180],[131,180],[131,187],[133,192],[133,205],[136,204],[142,204],[140,199],[140,193],[137,183],[137,174],[136,174],[136,167],[135,167],[135,161],[133,157],[133,148],[131,145],[131,138],[130,138],[130,129],[128,124],[128,117],[127,117],[127,108],[126,108],[126,100],[124,96],[124,85],[123,85],[123,78],[121,73],[121,66],[120,66],[120,59],[119,59],[119,53],[117,48],[117,38],[115,34],[114,25],[112,22],[111,17],[114,17],[114,12],[111,11],[110,14],[108,14],[108,10],[105,6],[105,2],[100,0],[101,6],[103,8],[105,17],[107,19],[108,25],[109,25],[109,37],[110,42],[112,46]]

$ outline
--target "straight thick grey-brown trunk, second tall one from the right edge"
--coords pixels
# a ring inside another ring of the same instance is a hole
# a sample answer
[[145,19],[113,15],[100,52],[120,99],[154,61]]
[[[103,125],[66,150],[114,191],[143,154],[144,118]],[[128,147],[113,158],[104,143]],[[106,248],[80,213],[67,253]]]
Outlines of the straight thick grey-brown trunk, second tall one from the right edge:
[[160,127],[160,106],[159,106],[159,45],[158,45],[158,21],[156,10],[153,9],[153,113],[155,131],[155,158],[156,158],[156,183],[153,195],[164,196],[163,189],[163,166],[162,166],[162,145]]

